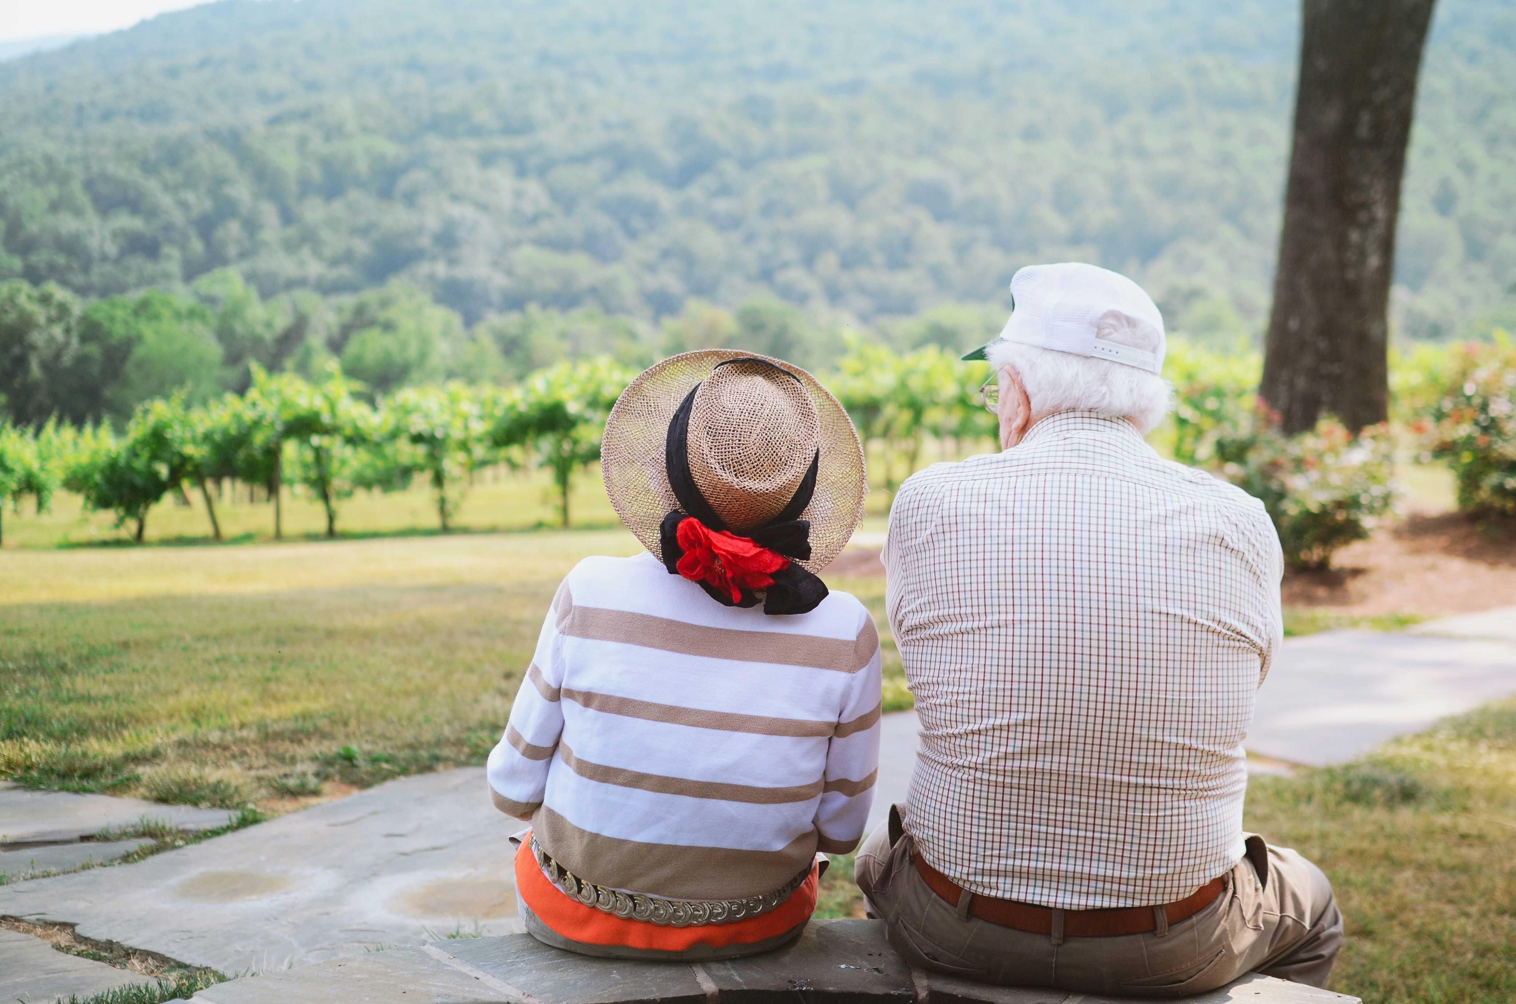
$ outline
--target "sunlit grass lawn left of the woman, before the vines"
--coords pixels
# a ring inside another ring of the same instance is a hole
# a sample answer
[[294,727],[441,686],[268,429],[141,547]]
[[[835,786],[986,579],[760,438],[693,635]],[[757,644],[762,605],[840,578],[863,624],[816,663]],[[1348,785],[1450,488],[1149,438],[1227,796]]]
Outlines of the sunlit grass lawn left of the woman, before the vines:
[[[625,531],[8,551],[0,775],[277,811],[482,763],[559,579],[637,551]],[[884,620],[882,579],[834,587]],[[908,701],[893,645],[890,669]]]

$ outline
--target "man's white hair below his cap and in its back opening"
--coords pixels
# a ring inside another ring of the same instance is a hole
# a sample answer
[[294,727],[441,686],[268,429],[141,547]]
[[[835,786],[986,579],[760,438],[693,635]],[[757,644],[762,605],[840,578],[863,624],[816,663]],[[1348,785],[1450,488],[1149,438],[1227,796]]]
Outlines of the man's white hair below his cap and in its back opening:
[[[1161,334],[1122,314],[1102,317],[1095,337],[1145,352],[1163,350]],[[1016,369],[1031,400],[1034,422],[1055,411],[1095,411],[1107,419],[1126,419],[1146,434],[1163,422],[1173,400],[1169,381],[1123,362],[1016,341],[991,343],[988,356],[996,373],[1005,367]]]

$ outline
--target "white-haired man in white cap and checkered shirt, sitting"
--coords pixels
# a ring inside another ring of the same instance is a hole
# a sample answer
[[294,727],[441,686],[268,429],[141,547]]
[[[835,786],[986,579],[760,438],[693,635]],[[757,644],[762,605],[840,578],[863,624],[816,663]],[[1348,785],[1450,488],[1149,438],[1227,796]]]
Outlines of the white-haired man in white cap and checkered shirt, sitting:
[[1243,833],[1243,737],[1281,642],[1263,505],[1143,441],[1169,408],[1158,308],[1084,264],[1011,281],[987,358],[1002,453],[890,513],[894,640],[922,720],[905,805],[857,881],[913,965],[1179,996],[1322,986],[1322,872]]

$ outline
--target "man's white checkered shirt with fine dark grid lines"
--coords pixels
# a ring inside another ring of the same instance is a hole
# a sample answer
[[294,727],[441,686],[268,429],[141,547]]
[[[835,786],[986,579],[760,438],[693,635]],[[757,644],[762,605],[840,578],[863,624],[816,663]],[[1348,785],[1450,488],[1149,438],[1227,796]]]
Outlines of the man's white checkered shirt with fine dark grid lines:
[[910,478],[884,563],[922,720],[905,825],[932,866],[1092,910],[1242,858],[1242,742],[1283,635],[1257,499],[1066,411]]

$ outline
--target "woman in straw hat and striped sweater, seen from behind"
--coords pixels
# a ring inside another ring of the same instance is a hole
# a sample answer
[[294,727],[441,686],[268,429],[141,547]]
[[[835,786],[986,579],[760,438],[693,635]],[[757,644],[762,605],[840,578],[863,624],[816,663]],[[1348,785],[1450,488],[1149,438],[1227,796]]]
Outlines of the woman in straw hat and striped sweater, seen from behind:
[[522,919],[590,955],[778,948],[873,801],[879,638],[816,576],[863,514],[858,435],[805,370],[690,352],[626,388],[602,467],[647,552],[568,573],[490,754],[532,822]]

